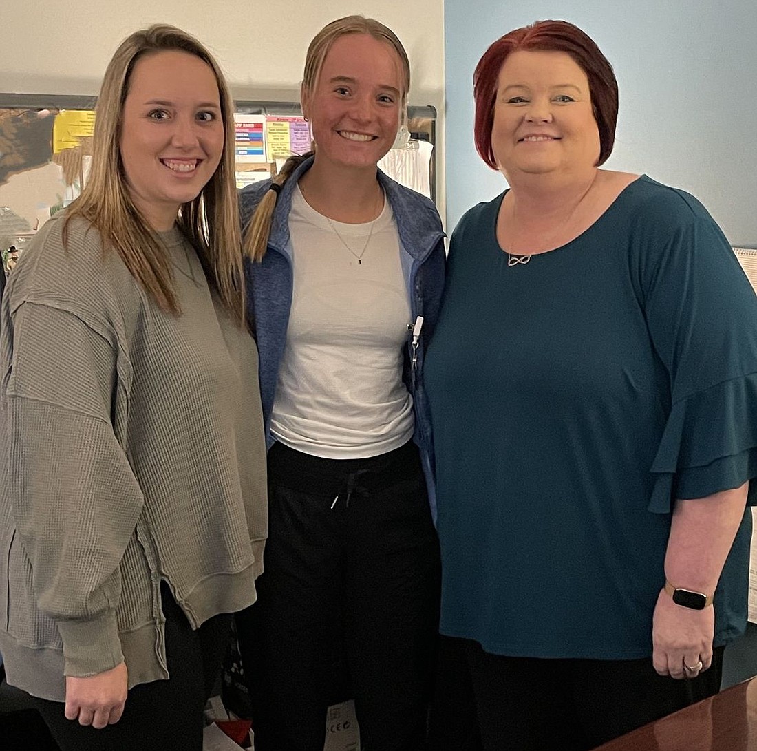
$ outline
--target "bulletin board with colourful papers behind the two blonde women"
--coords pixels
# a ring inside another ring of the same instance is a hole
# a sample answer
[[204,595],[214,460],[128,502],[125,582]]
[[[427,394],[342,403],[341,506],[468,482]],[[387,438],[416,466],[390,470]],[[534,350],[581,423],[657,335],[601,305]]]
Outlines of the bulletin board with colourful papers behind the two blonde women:
[[[0,250],[14,245],[23,251],[36,229],[79,195],[92,155],[95,101],[0,93]],[[298,102],[234,104],[238,188],[275,175],[286,157],[310,148]],[[434,200],[436,110],[411,106],[408,116],[410,142],[396,145],[381,167],[415,189],[416,182],[407,182],[413,179],[409,173],[422,170],[421,192]]]

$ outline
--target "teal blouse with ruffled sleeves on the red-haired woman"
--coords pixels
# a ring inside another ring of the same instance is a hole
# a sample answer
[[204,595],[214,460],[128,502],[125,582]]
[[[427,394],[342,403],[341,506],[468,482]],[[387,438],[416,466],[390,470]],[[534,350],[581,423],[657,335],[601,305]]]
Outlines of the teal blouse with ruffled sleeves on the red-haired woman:
[[[646,176],[515,266],[503,195],[453,233],[425,366],[441,630],[503,655],[649,656],[674,499],[757,476],[757,296],[705,208]],[[750,534],[746,513],[716,644],[746,625]]]

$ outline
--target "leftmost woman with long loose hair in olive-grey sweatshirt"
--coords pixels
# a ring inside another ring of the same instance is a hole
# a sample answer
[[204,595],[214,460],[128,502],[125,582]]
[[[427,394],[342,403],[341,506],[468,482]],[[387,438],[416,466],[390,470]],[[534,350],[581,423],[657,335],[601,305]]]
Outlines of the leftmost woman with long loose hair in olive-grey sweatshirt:
[[62,751],[200,751],[266,536],[232,102],[174,26],[108,65],[82,195],[2,300],[0,651]]

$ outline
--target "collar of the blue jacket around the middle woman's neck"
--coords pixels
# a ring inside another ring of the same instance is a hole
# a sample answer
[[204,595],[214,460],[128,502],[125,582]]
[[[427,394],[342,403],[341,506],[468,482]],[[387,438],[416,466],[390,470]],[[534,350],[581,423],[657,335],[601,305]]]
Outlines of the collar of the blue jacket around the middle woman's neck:
[[[291,173],[279,193],[276,209],[273,211],[269,246],[286,257],[289,257],[289,211],[292,195],[298,180],[313,166],[314,159],[315,157],[310,157],[304,160]],[[394,212],[403,248],[415,260],[422,260],[444,237],[435,205],[425,195],[405,188],[381,170],[378,170],[378,184],[384,189],[391,210]],[[266,182],[251,186],[254,189],[260,186],[258,200],[263,197],[263,192],[269,189],[269,185],[270,182],[266,180]]]

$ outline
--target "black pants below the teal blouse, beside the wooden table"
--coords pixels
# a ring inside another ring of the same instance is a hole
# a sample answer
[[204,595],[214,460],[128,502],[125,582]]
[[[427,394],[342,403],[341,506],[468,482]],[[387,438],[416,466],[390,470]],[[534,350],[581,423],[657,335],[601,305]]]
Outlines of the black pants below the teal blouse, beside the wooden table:
[[433,751],[587,751],[718,693],[723,647],[699,677],[652,659],[535,659],[441,637]]

